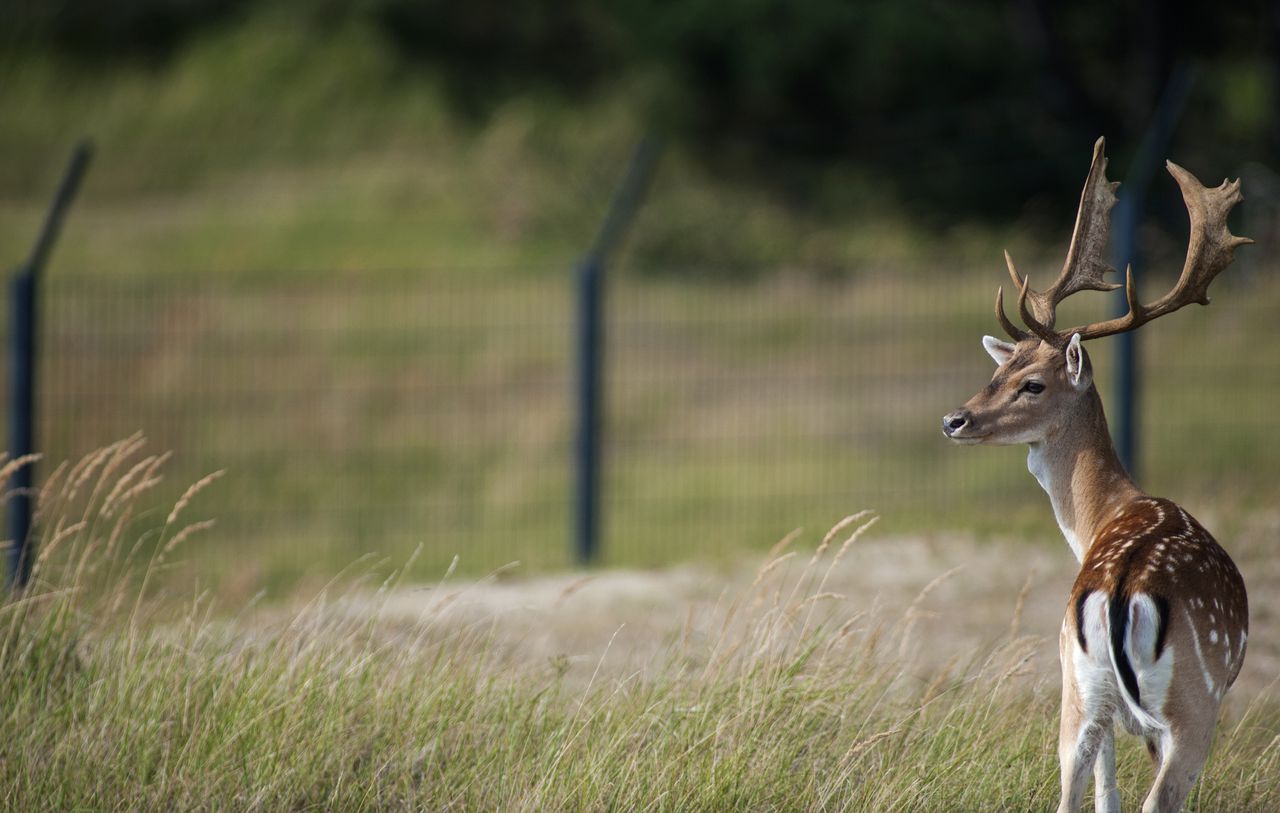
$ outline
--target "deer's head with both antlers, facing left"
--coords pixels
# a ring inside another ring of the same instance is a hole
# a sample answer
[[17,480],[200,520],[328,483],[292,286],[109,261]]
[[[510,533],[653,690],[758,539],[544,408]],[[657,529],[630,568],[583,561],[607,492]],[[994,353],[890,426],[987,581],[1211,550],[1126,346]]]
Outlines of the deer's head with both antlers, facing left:
[[[1115,269],[1103,261],[1111,207],[1119,183],[1107,181],[1105,140],[1093,145],[1093,163],[1080,195],[1075,230],[1066,262],[1057,280],[1043,292],[1034,291],[1005,252],[1009,275],[1018,288],[1018,312],[1027,329],[1014,325],[1005,314],[1004,288],[996,291],[996,319],[1012,342],[983,337],[982,343],[996,360],[995,376],[987,387],[960,410],[942,419],[942,431],[957,443],[1037,443],[1071,421],[1068,417],[1082,406],[1098,403],[1093,373],[1082,342],[1134,330],[1153,319],[1189,305],[1208,305],[1208,286],[1230,265],[1238,246],[1252,243],[1228,230],[1226,215],[1240,202],[1240,182],[1224,181],[1216,188],[1201,184],[1189,172],[1167,163],[1190,214],[1190,239],[1187,261],[1174,288],[1149,305],[1138,298],[1133,269],[1126,269],[1125,296],[1129,311],[1124,316],[1079,325],[1066,330],[1055,326],[1059,303],[1080,291],[1115,291],[1119,283],[1106,280]],[[1091,428],[1096,429],[1096,428]],[[1105,424],[1103,424],[1105,429]]]

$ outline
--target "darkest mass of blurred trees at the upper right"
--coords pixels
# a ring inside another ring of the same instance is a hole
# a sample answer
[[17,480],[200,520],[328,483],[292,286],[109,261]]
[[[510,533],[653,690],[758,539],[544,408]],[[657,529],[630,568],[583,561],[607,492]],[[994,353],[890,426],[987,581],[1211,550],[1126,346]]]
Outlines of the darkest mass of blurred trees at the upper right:
[[1179,60],[1208,68],[1184,123],[1202,151],[1234,161],[1258,155],[1276,120],[1271,87],[1271,99],[1254,104],[1258,127],[1221,127],[1233,88],[1217,69],[1275,70],[1258,4],[614,0],[614,8],[639,59],[668,77],[655,100],[659,119],[709,160],[783,184],[799,179],[805,189],[813,172],[854,164],[883,182],[878,193],[925,215],[1071,201],[1079,155],[1107,134],[1123,169]]

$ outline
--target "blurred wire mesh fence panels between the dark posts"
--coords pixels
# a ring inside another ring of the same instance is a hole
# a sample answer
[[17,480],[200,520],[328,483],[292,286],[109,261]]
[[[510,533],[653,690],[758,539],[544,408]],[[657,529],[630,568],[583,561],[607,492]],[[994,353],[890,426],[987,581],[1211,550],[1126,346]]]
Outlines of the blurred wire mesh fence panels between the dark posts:
[[[603,561],[765,547],[864,507],[899,530],[1051,530],[1019,452],[940,433],[991,371],[998,271],[612,279]],[[1271,279],[1144,332],[1143,481],[1193,511],[1280,497]],[[63,274],[46,293],[47,458],[142,431],[174,452],[174,493],[227,469],[201,497],[209,567],[270,579],[417,545],[424,575],[571,562],[567,274]]]

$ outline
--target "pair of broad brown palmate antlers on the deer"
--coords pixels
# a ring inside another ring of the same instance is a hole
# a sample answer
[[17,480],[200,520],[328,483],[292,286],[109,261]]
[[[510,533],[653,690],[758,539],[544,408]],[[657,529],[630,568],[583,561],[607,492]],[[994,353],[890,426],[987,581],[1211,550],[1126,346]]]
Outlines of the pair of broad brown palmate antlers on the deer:
[[[1239,181],[1224,181],[1222,186],[1208,188],[1201,184],[1196,175],[1178,164],[1167,161],[1169,173],[1183,191],[1187,211],[1190,214],[1192,233],[1187,247],[1187,261],[1183,274],[1174,289],[1151,305],[1138,301],[1138,289],[1133,280],[1133,269],[1125,270],[1125,296],[1129,312],[1116,319],[1055,330],[1055,312],[1059,302],[1079,291],[1115,291],[1120,286],[1103,280],[1103,274],[1114,271],[1102,261],[1107,243],[1111,220],[1111,207],[1115,206],[1115,189],[1119,183],[1106,178],[1105,141],[1098,138],[1093,145],[1093,164],[1080,195],[1080,210],[1075,216],[1075,232],[1071,234],[1071,247],[1057,280],[1043,293],[1032,291],[1029,280],[1019,277],[1012,260],[1006,252],[1009,274],[1019,288],[1018,310],[1023,323],[1032,333],[1050,344],[1061,347],[1074,333],[1082,339],[1096,339],[1134,330],[1148,321],[1171,314],[1175,310],[1199,302],[1208,305],[1208,286],[1222,269],[1231,264],[1238,246],[1252,243],[1247,237],[1236,237],[1226,228],[1226,215],[1240,202]],[[1002,292],[996,293],[1000,324],[1015,339],[1029,338],[1029,334],[1014,328],[1004,314]]]

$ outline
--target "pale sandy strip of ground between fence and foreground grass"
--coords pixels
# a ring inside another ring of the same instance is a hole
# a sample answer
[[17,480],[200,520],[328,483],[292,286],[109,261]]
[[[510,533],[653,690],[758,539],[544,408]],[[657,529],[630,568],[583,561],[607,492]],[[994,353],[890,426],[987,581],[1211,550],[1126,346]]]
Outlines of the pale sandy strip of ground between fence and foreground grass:
[[[1260,516],[1226,540],[1251,590],[1249,652],[1231,695],[1236,704],[1280,676],[1280,557],[1271,556],[1276,539],[1280,515]],[[790,548],[795,556],[769,579],[794,577],[817,543],[797,539]],[[402,621],[430,616],[435,622],[492,625],[500,647],[534,666],[558,663],[584,676],[602,666],[630,671],[669,652],[690,630],[713,634],[705,627],[723,617],[727,603],[759,597],[750,585],[762,562],[763,556],[731,571],[684,566],[406,588],[385,599],[384,612]],[[822,589],[838,598],[823,604],[836,620],[872,611],[901,622],[910,611],[913,649],[936,663],[983,652],[1014,632],[1038,636],[1032,667],[1056,682],[1057,631],[1074,575],[1075,561],[1061,543],[893,538],[872,529],[831,570]]]

